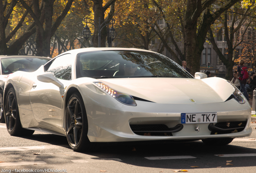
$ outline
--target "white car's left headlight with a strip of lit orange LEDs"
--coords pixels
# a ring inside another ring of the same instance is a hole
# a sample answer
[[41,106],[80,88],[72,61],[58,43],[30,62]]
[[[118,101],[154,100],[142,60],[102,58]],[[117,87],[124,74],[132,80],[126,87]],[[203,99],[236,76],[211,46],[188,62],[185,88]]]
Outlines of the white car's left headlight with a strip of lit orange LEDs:
[[111,89],[109,86],[107,86],[102,82],[93,82],[93,83],[95,83],[97,86],[103,89],[106,93],[108,93],[109,95],[111,95],[112,97],[120,101],[121,103],[129,106],[137,106],[135,100],[131,95],[120,93],[114,89]]

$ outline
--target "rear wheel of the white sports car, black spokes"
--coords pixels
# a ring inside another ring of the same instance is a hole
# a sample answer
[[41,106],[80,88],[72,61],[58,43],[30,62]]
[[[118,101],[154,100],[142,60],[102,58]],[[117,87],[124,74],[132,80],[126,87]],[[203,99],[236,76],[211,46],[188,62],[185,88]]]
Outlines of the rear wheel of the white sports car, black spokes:
[[12,136],[28,136],[32,135],[34,131],[23,129],[21,126],[19,108],[15,91],[13,88],[8,90],[6,96],[6,104],[4,107],[6,127],[10,135]]

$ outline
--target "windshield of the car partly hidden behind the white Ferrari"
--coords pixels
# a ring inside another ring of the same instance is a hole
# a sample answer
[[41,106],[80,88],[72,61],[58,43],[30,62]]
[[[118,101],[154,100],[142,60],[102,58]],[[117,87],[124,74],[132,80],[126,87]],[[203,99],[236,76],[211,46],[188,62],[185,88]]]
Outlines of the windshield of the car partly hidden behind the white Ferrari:
[[33,72],[50,59],[47,58],[2,58],[2,74],[10,74],[16,71]]

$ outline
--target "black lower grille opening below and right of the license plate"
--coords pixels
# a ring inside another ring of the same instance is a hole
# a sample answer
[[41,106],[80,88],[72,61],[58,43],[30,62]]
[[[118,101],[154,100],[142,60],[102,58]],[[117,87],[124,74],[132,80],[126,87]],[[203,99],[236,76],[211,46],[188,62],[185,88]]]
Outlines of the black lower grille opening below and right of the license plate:
[[[246,127],[247,121],[231,121],[231,122],[221,122],[215,124],[215,127],[219,127],[221,129],[225,129],[224,131],[221,130],[213,130],[211,135],[218,135],[218,134],[227,134],[227,133],[237,133],[243,131]],[[241,128],[243,127],[243,128]],[[235,129],[237,128],[237,129]],[[239,129],[238,129],[239,128]],[[231,129],[231,130],[228,130]]]

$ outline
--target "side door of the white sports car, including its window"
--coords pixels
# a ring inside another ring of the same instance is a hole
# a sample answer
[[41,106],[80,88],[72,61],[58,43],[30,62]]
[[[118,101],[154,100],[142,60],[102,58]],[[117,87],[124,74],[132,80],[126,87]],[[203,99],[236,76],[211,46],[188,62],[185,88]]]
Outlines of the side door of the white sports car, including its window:
[[[57,57],[47,72],[62,81],[71,80],[72,58],[70,54]],[[62,130],[63,95],[64,89],[53,83],[35,80],[30,91],[31,107],[36,121],[48,127]]]

